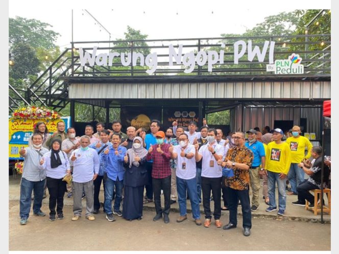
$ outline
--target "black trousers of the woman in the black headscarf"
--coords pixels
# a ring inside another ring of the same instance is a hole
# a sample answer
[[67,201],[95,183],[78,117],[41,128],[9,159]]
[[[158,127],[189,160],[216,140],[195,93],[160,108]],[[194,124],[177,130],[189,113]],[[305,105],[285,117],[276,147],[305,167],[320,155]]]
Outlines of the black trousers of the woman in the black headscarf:
[[66,191],[66,182],[61,179],[54,179],[46,177],[47,188],[50,193],[50,215],[55,215],[55,207],[57,207],[57,214],[62,214],[63,197]]

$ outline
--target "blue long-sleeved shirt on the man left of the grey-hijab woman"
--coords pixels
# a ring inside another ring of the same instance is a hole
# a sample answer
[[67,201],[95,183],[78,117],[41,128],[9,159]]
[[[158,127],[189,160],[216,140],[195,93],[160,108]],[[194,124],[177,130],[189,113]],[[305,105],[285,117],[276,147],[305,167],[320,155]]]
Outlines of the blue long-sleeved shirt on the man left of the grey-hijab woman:
[[103,155],[103,158],[107,160],[106,172],[109,179],[116,181],[124,180],[124,156],[126,155],[127,149],[124,146],[118,146],[118,155],[115,155],[115,149],[113,146],[109,149],[108,155]]

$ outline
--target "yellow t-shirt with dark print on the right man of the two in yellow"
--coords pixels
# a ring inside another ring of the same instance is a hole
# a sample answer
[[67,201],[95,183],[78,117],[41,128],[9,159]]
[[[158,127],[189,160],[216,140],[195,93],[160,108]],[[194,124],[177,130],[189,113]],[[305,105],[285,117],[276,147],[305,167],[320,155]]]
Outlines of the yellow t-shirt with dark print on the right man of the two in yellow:
[[[300,163],[304,158],[309,159],[311,157],[312,144],[308,138],[300,136],[299,138],[289,137],[286,140],[291,151],[292,163]],[[307,155],[305,156],[305,147],[307,146]]]

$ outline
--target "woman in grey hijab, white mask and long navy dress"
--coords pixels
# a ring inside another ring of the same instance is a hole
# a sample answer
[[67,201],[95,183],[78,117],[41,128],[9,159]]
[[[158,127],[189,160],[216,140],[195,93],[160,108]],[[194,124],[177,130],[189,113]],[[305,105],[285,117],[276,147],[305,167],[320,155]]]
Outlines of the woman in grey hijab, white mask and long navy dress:
[[129,221],[142,219],[143,186],[147,184],[146,155],[140,137],[133,139],[132,148],[124,157],[126,168],[124,176],[123,217]]

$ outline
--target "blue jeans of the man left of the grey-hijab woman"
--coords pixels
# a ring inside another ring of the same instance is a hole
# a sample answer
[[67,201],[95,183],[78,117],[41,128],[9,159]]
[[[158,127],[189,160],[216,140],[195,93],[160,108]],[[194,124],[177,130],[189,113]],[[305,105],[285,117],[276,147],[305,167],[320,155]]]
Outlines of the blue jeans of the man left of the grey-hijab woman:
[[114,211],[120,210],[120,202],[122,200],[122,191],[123,191],[123,180],[119,181],[118,178],[116,181],[113,181],[109,177],[107,177],[105,184],[105,211],[107,214],[112,214],[112,200],[113,200],[113,191],[115,186],[115,199],[114,199]]

